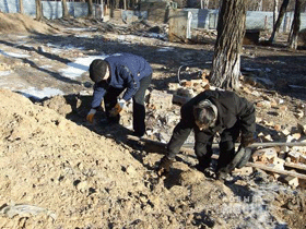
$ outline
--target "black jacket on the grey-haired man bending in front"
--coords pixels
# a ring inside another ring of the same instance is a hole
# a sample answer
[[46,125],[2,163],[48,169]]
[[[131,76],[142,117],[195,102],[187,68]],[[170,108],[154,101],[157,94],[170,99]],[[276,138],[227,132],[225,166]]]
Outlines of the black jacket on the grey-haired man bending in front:
[[254,134],[256,131],[255,107],[247,99],[237,96],[233,92],[205,91],[186,103],[180,109],[180,122],[174,129],[172,140],[168,144],[169,153],[179,152],[193,128],[198,128],[193,117],[193,106],[209,99],[217,108],[217,119],[213,128],[204,130],[209,135],[216,132],[222,133],[231,129],[239,120],[243,134]]

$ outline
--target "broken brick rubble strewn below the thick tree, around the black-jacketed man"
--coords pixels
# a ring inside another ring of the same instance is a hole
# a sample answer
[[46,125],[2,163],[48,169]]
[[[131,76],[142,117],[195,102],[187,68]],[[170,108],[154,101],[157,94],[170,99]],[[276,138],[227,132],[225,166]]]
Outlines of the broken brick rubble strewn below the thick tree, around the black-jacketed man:
[[[175,123],[178,122],[179,112],[165,112],[165,110],[173,110],[173,105],[183,105],[199,93],[205,89],[215,89],[210,86],[208,75],[209,70],[201,71],[201,74],[198,74],[198,79],[193,80],[180,80],[178,77],[179,83],[169,83],[168,92],[161,91],[152,91],[149,96],[148,105],[149,109],[153,113],[152,110],[162,110],[160,114],[166,116],[166,113],[173,113],[172,123],[168,123],[168,126],[174,126]],[[193,76],[195,76],[193,74]],[[192,77],[191,77],[192,79]],[[252,95],[259,99],[255,100],[255,105],[261,114],[262,110],[270,110],[268,112],[276,112],[271,110],[279,109],[280,112],[289,112],[289,108],[284,99],[281,96],[266,96],[258,92],[254,86],[258,86],[255,83],[249,83],[250,79],[248,79],[248,84],[244,84],[242,86],[243,93],[246,95]],[[255,82],[255,80],[254,80]],[[252,99],[254,100],[254,99]],[[304,118],[304,106],[299,104],[299,106],[295,107],[292,112],[293,117],[297,120],[302,120]],[[157,120],[162,120],[162,116],[154,116]],[[169,120],[169,119],[168,119]],[[290,184],[292,188],[306,188],[306,124],[302,124],[303,122],[297,122],[296,126],[285,126],[281,124],[276,124],[273,120],[269,120],[267,118],[257,117],[257,124],[263,126],[263,130],[258,130],[257,132],[257,149],[254,150],[252,154],[252,162],[249,162],[247,167],[243,169],[236,169],[235,173],[239,173],[243,176],[250,174],[254,169],[260,168],[271,173],[274,179],[285,182]],[[151,133],[158,133],[162,135],[161,126],[152,128]],[[153,134],[149,134],[151,138]],[[166,137],[162,137],[162,142],[166,143],[170,137],[170,132]],[[161,141],[161,137],[156,137],[157,141]],[[190,137],[191,138],[191,137]],[[189,142],[192,142],[190,140]],[[262,145],[260,145],[262,143]],[[272,146],[272,147],[271,147]],[[304,174],[303,174],[304,173]]]

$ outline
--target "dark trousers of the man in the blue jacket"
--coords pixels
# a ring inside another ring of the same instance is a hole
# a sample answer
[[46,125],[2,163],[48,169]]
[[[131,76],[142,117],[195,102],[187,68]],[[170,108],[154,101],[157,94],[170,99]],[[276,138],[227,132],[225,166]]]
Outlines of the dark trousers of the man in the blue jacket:
[[[140,86],[134,96],[132,97],[133,100],[133,130],[134,134],[138,136],[142,136],[145,133],[145,107],[144,107],[144,96],[145,91],[151,84],[152,74],[143,77],[140,80]],[[109,87],[107,93],[104,96],[104,104],[105,104],[105,111],[106,117],[109,122],[119,123],[120,116],[110,117],[109,111],[115,107],[117,104],[118,96],[125,91],[126,88],[116,88]]]

